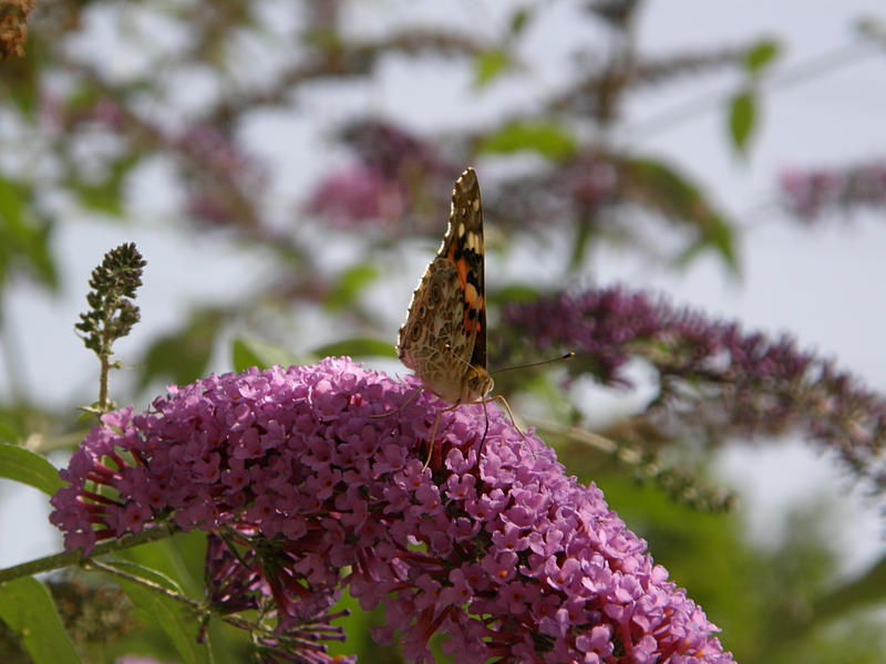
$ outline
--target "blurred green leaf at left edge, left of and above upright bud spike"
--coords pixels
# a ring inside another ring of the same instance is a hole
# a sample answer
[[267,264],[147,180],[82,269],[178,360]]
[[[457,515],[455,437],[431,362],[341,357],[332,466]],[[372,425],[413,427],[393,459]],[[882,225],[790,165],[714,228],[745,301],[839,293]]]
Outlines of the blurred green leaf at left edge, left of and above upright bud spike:
[[58,276],[49,248],[51,224],[29,207],[30,190],[0,178],[0,287],[14,269],[27,269],[55,289]]

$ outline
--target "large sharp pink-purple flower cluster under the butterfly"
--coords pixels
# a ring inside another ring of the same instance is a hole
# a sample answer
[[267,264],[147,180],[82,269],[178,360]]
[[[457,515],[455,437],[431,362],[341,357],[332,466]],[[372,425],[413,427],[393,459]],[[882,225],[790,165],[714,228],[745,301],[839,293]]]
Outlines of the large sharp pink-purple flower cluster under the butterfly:
[[486,430],[483,407],[416,390],[347,359],[174,388],[103,417],[51,520],[86,553],[164,518],[235,533],[255,553],[215,552],[216,605],[270,593],[282,629],[303,629],[343,583],[363,609],[384,604],[374,636],[399,634],[413,662],[433,661],[437,631],[466,664],[732,661],[599,489],[499,413]]

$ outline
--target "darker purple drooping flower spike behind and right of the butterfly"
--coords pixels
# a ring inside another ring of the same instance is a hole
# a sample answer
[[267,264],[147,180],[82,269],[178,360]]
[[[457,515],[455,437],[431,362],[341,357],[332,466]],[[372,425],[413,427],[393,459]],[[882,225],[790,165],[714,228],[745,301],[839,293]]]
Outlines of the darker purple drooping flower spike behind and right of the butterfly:
[[886,401],[790,338],[744,333],[620,288],[511,307],[503,322],[542,349],[575,351],[570,370],[607,384],[627,384],[619,370],[646,357],[659,373],[660,397],[647,413],[659,425],[713,432],[713,442],[801,427],[886,490]]

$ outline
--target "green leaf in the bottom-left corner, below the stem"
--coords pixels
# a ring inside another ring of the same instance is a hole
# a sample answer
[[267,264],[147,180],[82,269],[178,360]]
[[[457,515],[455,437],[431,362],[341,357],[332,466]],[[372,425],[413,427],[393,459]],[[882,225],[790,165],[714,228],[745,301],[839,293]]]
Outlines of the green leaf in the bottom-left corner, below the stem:
[[34,664],[81,662],[49,591],[33,577],[0,585],[0,620],[21,641]]

